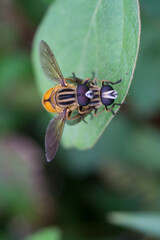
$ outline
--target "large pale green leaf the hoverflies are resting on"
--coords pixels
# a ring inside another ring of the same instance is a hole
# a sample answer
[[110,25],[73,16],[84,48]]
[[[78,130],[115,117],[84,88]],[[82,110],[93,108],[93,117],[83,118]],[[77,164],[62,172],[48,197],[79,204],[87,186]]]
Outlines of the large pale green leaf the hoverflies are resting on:
[[[46,13],[36,33],[32,60],[41,94],[52,87],[46,80],[39,61],[39,41],[45,40],[59,63],[64,77],[72,72],[82,79],[94,71],[99,80],[122,83],[115,89],[123,102],[134,72],[139,48],[140,17],[137,0],[59,0]],[[115,110],[117,111],[116,107]],[[65,147],[92,147],[113,118],[103,112],[88,124],[66,124]]]

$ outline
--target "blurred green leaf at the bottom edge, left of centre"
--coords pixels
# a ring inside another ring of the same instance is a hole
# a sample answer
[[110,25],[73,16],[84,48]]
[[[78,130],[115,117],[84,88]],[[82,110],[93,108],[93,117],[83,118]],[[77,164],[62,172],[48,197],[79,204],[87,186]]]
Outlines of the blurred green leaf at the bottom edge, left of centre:
[[58,227],[43,229],[38,233],[25,238],[25,240],[61,240],[62,233]]

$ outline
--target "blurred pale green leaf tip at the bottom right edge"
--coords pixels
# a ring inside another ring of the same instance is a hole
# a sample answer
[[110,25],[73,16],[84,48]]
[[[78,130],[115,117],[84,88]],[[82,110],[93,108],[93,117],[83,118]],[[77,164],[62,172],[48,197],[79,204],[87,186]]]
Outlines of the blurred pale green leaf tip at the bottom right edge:
[[109,214],[109,222],[160,237],[160,214],[113,212]]

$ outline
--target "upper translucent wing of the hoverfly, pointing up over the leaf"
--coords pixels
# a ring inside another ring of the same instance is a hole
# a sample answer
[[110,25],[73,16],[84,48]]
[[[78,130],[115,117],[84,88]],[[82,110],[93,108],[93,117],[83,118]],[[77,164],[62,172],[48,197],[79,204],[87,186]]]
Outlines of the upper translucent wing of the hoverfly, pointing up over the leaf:
[[46,77],[55,83],[61,83],[62,86],[66,85],[66,82],[63,78],[61,70],[58,66],[58,63],[45,41],[41,41],[39,45],[39,53],[40,53],[40,62],[43,72]]

